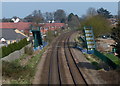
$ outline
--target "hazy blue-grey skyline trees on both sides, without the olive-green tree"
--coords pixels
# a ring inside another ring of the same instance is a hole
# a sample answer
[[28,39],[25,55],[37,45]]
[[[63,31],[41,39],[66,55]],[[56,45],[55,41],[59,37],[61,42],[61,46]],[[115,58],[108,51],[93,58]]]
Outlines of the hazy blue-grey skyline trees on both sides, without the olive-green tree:
[[[99,14],[101,16],[104,16],[106,18],[111,18],[112,15],[110,15],[110,12],[107,11],[104,8],[100,8],[97,11],[94,8],[89,8],[87,11],[87,17],[93,16]],[[85,17],[86,17],[85,16]],[[13,18],[17,18],[17,16],[13,16]],[[55,12],[45,12],[42,13],[41,10],[34,10],[31,14],[27,15],[24,18],[21,18],[22,21],[25,22],[36,22],[36,23],[45,23],[45,22],[52,22],[54,20],[55,22],[59,23],[68,23],[70,27],[79,27],[80,21],[84,18],[82,16],[81,18],[74,14],[66,14],[66,12],[63,9],[58,9]],[[11,18],[3,18],[2,22],[13,22]]]

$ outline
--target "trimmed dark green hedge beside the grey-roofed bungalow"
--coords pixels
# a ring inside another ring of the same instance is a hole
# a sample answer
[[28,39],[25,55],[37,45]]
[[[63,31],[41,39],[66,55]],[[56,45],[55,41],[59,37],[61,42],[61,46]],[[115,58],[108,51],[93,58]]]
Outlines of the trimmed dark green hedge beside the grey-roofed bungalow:
[[9,55],[10,53],[16,51],[16,50],[20,50],[22,49],[24,46],[26,46],[27,44],[29,44],[29,42],[27,41],[27,39],[22,39],[19,42],[15,42],[12,44],[9,44],[8,46],[3,46],[2,49],[2,56],[1,58]]

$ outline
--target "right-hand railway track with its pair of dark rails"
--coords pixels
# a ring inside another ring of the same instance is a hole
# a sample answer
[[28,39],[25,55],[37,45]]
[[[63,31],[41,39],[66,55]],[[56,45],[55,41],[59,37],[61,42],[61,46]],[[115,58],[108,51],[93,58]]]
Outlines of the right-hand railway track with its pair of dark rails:
[[[76,64],[76,62],[74,60],[72,52],[70,50],[70,47],[69,47],[69,38],[70,38],[70,36],[67,36],[66,39],[65,39],[65,42],[64,42],[64,47],[65,47],[64,53],[65,53],[66,61],[67,61],[68,68],[69,68],[69,71],[71,73],[74,85],[77,86],[80,83],[80,80],[77,80],[77,78],[82,77],[82,82],[84,81],[83,83],[87,86],[88,84],[87,84],[85,78],[83,77],[82,73],[80,72],[80,70],[79,70],[79,68],[78,68],[78,66],[77,66],[77,64]],[[70,64],[70,58],[72,58],[71,61],[73,61],[73,63],[74,63],[74,64],[72,64],[72,66]],[[76,67],[76,68],[74,68],[74,67]],[[76,69],[76,70],[73,70],[73,69]],[[76,73],[79,72],[79,74],[77,74],[77,76],[78,76],[77,78],[76,78],[76,75],[73,73],[73,71],[76,71]]]

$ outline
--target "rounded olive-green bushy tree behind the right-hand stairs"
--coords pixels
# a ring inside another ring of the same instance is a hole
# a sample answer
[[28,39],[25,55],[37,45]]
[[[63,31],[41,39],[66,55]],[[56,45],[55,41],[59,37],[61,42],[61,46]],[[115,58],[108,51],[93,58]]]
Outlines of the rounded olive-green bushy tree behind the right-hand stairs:
[[100,15],[86,18],[81,22],[81,26],[91,26],[93,28],[95,38],[103,34],[110,34],[111,32],[109,22],[107,21],[107,19]]

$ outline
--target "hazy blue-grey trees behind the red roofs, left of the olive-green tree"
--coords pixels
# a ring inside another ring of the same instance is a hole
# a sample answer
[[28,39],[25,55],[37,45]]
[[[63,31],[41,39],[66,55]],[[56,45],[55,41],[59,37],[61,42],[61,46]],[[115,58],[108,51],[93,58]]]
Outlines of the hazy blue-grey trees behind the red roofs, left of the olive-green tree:
[[[13,16],[17,18],[17,16]],[[12,18],[3,18],[2,22],[13,22]],[[41,10],[34,10],[31,14],[27,15],[24,18],[21,18],[21,21],[24,22],[35,22],[35,23],[51,23],[52,21],[56,23],[68,23],[70,27],[79,26],[80,21],[78,15],[70,13],[69,15],[62,9],[58,9],[55,12],[45,12],[42,13]]]

